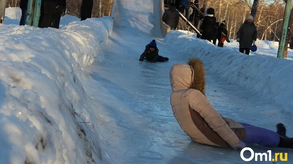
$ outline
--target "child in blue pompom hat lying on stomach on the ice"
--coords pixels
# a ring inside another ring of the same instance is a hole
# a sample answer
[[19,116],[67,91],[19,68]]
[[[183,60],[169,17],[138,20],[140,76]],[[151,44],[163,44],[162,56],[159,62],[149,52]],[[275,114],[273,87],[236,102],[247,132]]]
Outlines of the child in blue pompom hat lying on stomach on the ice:
[[165,62],[168,61],[168,57],[163,57],[159,55],[159,49],[157,48],[157,43],[155,40],[152,40],[148,45],[146,45],[146,49],[140,55],[139,61],[144,61],[147,59],[149,62]]

